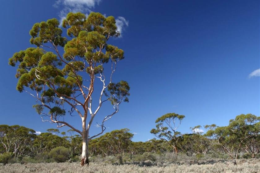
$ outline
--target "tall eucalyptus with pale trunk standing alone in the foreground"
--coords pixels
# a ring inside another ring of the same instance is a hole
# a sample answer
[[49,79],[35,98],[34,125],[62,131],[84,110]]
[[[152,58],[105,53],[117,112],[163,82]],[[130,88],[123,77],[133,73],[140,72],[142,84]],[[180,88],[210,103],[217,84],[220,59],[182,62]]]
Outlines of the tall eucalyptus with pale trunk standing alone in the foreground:
[[[57,123],[57,127],[68,126],[82,136],[83,166],[89,164],[89,139],[102,134],[106,129],[104,122],[118,112],[121,102],[128,102],[130,88],[125,81],[112,83],[116,65],[124,58],[122,49],[107,44],[110,37],[120,35],[113,16],[92,12],[86,17],[82,13],[68,13],[62,26],[67,28],[70,39],[62,36],[57,19],[35,23],[30,30],[30,42],[36,47],[15,53],[9,64],[18,64],[16,88],[36,99],[34,108],[43,121]],[[104,72],[107,63],[110,63],[109,74]],[[101,81],[101,86],[96,87],[96,79]],[[92,103],[95,88],[100,88],[96,105]],[[114,111],[98,124],[101,132],[89,137],[93,119],[106,101],[112,103]],[[66,121],[65,115],[75,111],[82,130]]]

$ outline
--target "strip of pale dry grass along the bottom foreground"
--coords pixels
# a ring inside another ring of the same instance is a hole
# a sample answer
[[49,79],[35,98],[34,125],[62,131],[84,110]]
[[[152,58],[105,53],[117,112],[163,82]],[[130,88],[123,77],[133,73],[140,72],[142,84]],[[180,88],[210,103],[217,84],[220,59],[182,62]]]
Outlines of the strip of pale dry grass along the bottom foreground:
[[[149,161],[148,161],[149,162]],[[260,159],[240,159],[214,164],[169,164],[162,167],[140,167],[138,165],[111,165],[106,163],[90,163],[89,167],[81,167],[79,163],[27,163],[0,164],[1,173],[260,173]]]

